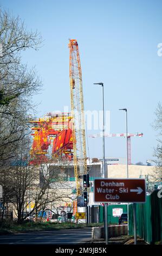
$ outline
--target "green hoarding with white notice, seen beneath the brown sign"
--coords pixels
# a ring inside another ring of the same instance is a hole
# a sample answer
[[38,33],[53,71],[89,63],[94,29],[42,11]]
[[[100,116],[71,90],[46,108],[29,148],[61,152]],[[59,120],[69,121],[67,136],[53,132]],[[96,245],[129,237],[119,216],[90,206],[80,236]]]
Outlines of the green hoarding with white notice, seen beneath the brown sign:
[[[122,213],[127,212],[127,205],[126,204],[109,204],[108,211],[107,211],[107,218],[109,224],[118,224],[119,223],[119,216]],[[103,206],[99,206],[99,222],[103,222]]]

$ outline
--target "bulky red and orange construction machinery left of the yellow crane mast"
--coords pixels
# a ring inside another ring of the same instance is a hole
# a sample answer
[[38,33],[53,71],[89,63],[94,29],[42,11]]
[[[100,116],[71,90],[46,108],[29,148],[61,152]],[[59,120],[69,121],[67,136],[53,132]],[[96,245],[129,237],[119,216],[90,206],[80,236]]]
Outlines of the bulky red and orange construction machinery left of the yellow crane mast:
[[69,113],[47,113],[43,118],[31,119],[33,145],[30,151],[31,164],[48,162],[49,146],[51,156],[56,159],[73,159],[72,117]]

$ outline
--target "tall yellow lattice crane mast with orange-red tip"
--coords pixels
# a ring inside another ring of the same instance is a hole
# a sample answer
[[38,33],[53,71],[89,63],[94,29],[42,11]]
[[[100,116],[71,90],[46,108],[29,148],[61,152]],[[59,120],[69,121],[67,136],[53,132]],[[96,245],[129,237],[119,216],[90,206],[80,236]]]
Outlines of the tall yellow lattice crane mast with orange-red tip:
[[73,118],[73,150],[76,195],[81,196],[81,175],[87,174],[85,117],[83,107],[82,71],[79,48],[75,39],[69,40],[70,100]]

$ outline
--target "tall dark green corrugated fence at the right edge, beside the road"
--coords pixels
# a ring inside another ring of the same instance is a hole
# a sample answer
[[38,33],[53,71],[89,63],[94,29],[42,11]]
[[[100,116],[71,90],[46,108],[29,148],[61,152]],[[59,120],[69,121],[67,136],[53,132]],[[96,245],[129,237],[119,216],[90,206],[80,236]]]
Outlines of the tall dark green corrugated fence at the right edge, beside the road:
[[[154,191],[137,204],[137,235],[150,244],[162,240],[162,198]],[[129,205],[129,235],[133,235],[133,204]]]

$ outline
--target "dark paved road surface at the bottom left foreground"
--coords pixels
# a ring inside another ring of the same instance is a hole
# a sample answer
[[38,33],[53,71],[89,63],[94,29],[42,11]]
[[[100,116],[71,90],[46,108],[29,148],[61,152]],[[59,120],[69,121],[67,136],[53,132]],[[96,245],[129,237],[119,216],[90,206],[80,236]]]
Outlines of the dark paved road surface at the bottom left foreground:
[[41,231],[14,235],[1,235],[0,244],[38,245],[38,244],[81,244],[91,240],[92,228]]

